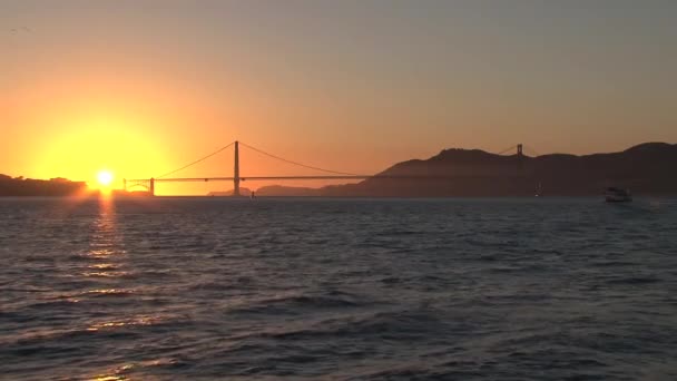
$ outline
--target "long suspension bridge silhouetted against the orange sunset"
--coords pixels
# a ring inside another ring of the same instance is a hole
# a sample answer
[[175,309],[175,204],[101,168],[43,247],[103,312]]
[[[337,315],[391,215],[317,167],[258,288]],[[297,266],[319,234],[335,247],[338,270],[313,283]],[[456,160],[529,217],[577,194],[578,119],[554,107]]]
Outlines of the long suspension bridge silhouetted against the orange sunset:
[[[283,163],[287,163],[287,164],[292,164],[295,165],[297,167],[303,167],[306,169],[313,169],[316,172],[321,172],[323,173],[323,175],[315,175],[315,176],[243,176],[239,172],[239,147],[246,147],[248,149],[252,149],[258,154],[268,156],[273,159],[283,162]],[[233,147],[234,149],[234,167],[233,167],[233,176],[226,176],[226,177],[169,177],[173,176],[175,174],[177,174],[178,172],[181,172],[184,169],[187,169],[194,165],[197,165],[213,156],[216,156],[217,154],[228,149]],[[511,146],[507,149],[503,149],[499,153],[497,153],[497,155],[504,155],[508,152],[514,152],[514,149],[517,148],[517,157],[518,159],[521,159],[523,157],[523,145],[522,144],[518,144],[514,146]],[[190,182],[233,182],[233,196],[237,197],[241,196],[241,183],[242,182],[254,182],[254,180],[333,180],[333,179],[346,179],[346,180],[352,180],[352,179],[367,179],[367,178],[399,178],[399,179],[429,179],[432,178],[431,176],[393,176],[393,175],[360,175],[360,174],[353,174],[353,173],[346,173],[346,172],[338,172],[338,170],[332,170],[332,169],[326,169],[326,168],[321,168],[321,167],[316,167],[316,166],[311,166],[311,165],[305,165],[298,162],[293,162],[293,160],[288,160],[286,158],[269,154],[267,152],[264,152],[262,149],[258,149],[254,146],[247,145],[243,141],[238,141],[235,140],[224,147],[218,148],[217,150],[210,153],[209,155],[206,155],[204,157],[200,157],[199,159],[195,160],[195,162],[190,162],[179,168],[176,168],[174,170],[167,172],[160,176],[157,177],[150,177],[150,178],[134,178],[134,179],[124,179],[124,189],[128,190],[131,189],[134,187],[143,187],[145,188],[149,195],[155,196],[155,188],[156,188],[156,184],[157,183],[190,183]],[[435,177],[435,178],[450,178],[450,177]]]

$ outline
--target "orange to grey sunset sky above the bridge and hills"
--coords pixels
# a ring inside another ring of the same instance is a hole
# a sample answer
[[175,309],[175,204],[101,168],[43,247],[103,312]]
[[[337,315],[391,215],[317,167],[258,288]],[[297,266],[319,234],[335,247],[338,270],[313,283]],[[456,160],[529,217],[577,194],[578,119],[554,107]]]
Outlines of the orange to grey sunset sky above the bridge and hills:
[[675,20],[673,0],[0,0],[0,173],[119,182],[235,139],[367,174],[451,147],[677,143]]

